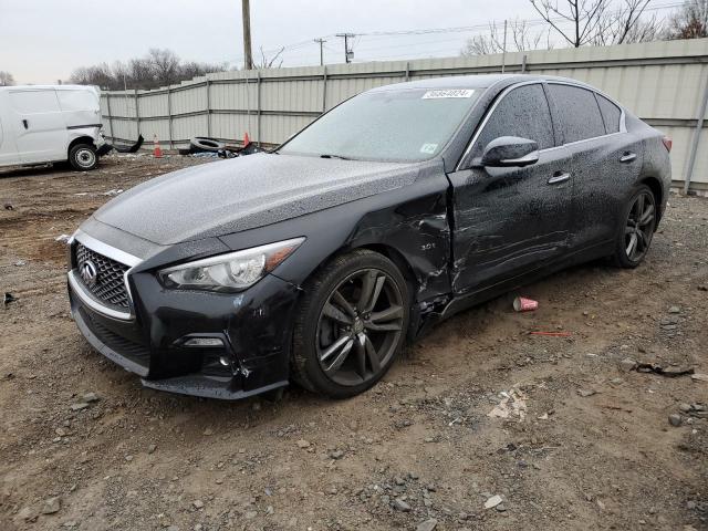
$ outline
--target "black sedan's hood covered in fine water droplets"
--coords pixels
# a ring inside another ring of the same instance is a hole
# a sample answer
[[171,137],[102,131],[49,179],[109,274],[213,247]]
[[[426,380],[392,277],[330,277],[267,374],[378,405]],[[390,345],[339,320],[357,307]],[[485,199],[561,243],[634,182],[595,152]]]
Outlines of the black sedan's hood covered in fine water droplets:
[[417,165],[256,154],[174,171],[98,209],[98,221],[171,244],[331,208],[415,180]]

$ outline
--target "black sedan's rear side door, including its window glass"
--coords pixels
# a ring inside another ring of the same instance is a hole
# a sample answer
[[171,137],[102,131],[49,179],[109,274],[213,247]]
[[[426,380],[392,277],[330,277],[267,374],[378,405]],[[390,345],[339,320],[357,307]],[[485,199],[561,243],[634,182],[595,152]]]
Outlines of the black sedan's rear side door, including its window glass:
[[626,192],[642,167],[642,145],[624,127],[622,110],[581,86],[549,82],[552,108],[573,157],[573,230],[570,246],[612,240]]

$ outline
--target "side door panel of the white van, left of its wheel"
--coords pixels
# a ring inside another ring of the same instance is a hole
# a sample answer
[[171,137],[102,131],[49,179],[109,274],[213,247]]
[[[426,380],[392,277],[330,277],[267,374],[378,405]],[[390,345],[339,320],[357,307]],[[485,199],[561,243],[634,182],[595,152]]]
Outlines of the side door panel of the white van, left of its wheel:
[[9,91],[9,119],[22,163],[66,159],[66,124],[53,88]]

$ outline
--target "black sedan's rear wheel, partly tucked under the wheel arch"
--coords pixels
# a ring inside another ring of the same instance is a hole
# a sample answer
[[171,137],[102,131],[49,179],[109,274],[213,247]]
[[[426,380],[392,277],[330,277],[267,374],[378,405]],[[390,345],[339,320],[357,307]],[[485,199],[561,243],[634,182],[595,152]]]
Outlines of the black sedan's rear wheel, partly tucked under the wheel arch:
[[646,185],[641,185],[627,201],[622,225],[615,238],[615,266],[634,269],[646,257],[656,228],[656,198]]

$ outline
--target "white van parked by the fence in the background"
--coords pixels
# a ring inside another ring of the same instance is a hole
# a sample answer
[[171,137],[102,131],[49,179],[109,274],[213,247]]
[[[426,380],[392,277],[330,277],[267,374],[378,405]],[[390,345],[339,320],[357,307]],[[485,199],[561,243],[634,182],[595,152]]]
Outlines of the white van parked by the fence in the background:
[[93,169],[104,144],[96,87],[0,86],[0,166],[69,162]]

